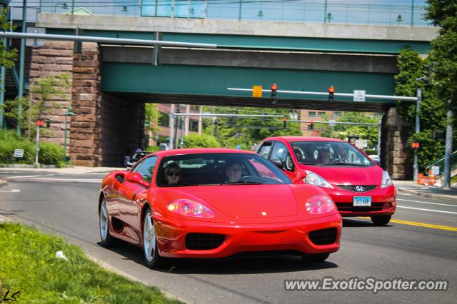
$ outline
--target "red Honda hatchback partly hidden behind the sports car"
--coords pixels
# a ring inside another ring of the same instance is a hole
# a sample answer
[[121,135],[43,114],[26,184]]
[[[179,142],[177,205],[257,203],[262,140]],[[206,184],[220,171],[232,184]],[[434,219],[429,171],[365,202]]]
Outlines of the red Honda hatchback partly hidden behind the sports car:
[[341,216],[370,216],[387,225],[396,210],[396,188],[386,171],[351,143],[324,137],[271,137],[256,152],[283,169],[293,183],[318,186]]

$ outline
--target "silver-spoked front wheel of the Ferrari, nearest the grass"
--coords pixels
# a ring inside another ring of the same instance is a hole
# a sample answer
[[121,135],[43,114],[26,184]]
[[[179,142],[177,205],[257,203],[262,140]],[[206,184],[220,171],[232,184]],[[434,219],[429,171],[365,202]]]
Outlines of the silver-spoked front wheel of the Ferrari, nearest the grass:
[[152,220],[151,208],[147,208],[143,218],[143,251],[146,265],[149,268],[157,268],[162,263],[162,258],[157,251],[157,236],[154,221]]

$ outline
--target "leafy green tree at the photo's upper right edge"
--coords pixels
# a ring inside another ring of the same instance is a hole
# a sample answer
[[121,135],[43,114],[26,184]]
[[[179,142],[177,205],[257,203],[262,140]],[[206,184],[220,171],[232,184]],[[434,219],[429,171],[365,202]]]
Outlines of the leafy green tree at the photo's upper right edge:
[[[428,0],[426,19],[440,26],[438,37],[431,41],[431,75],[438,98],[447,102],[451,99],[451,109],[457,109],[457,1]],[[457,126],[454,119],[454,126]]]

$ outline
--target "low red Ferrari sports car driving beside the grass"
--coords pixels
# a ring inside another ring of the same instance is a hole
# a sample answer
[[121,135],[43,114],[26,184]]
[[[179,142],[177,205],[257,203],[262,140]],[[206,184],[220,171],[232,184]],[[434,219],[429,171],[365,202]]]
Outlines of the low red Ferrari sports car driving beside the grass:
[[294,185],[255,153],[195,148],[149,154],[109,173],[99,196],[101,243],[164,258],[297,254],[323,261],[340,247],[341,216],[322,189]]

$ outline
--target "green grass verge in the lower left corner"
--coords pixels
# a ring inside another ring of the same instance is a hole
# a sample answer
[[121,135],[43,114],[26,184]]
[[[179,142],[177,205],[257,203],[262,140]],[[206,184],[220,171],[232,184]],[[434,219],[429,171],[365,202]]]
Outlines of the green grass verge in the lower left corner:
[[[56,258],[62,250],[68,260]],[[181,303],[104,270],[63,238],[0,223],[0,300],[19,303]]]

